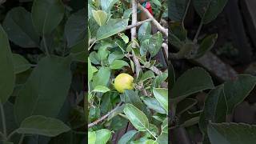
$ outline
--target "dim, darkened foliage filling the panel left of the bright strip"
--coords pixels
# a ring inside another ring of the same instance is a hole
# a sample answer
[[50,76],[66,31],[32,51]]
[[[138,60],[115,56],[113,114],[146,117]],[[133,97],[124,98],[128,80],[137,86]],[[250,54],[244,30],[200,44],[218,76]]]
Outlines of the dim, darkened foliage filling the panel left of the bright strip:
[[15,6],[1,7],[7,12],[0,26],[1,140],[81,143],[85,9],[60,0]]

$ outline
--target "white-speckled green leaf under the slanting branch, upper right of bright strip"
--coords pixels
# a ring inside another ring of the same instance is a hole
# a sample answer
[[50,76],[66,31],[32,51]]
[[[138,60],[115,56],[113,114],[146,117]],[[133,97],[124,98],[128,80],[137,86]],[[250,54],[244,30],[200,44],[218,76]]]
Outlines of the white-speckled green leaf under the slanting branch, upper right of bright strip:
[[158,51],[162,48],[162,33],[158,32],[157,34],[154,34],[150,38],[149,42],[149,52],[151,57],[154,57],[156,54],[158,54]]

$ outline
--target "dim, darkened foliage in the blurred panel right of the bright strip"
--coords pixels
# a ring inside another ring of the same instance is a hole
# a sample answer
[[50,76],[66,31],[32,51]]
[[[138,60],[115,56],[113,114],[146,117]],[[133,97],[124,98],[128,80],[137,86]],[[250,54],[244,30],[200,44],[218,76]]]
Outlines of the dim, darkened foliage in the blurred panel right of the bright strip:
[[[204,24],[212,22],[222,12],[227,1],[218,0],[171,0],[169,17],[174,20],[170,26],[170,43],[178,50],[178,58],[201,58],[217,40],[217,34],[198,39]],[[194,6],[202,18],[194,39],[187,36],[184,18],[189,5]],[[172,69],[173,70],[173,69]],[[174,74],[171,72],[171,74]],[[187,70],[179,78],[174,78],[170,90],[171,131],[184,128],[196,130],[199,126],[203,136],[202,144],[217,143],[255,143],[254,126],[230,122],[234,108],[250,94],[256,84],[256,77],[246,74],[214,86],[208,72],[202,68]],[[198,99],[194,96],[206,95],[202,109],[195,109]],[[172,139],[172,138],[171,138]]]

